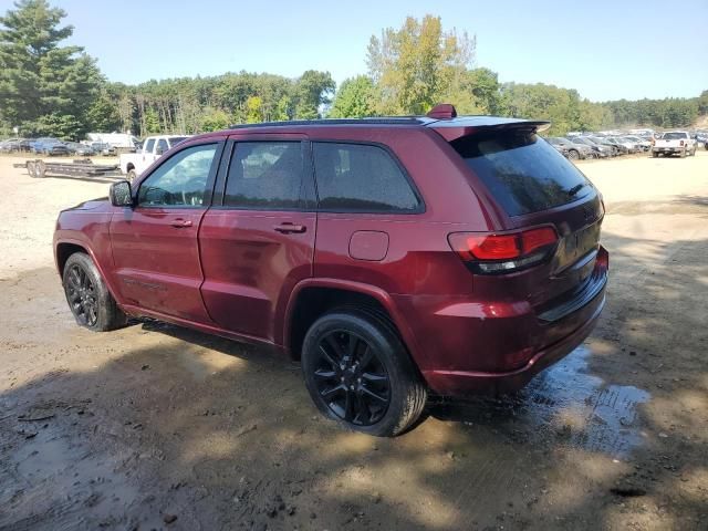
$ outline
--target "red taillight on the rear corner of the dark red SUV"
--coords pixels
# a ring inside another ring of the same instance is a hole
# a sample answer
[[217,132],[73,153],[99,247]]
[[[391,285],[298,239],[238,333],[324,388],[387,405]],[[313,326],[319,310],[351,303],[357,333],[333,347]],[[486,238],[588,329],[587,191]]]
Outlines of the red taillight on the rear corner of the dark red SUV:
[[475,272],[494,274],[543,262],[555,249],[558,233],[552,227],[503,235],[452,232],[448,241]]

